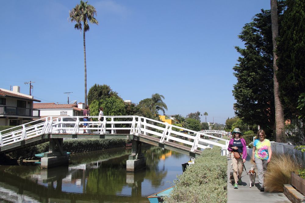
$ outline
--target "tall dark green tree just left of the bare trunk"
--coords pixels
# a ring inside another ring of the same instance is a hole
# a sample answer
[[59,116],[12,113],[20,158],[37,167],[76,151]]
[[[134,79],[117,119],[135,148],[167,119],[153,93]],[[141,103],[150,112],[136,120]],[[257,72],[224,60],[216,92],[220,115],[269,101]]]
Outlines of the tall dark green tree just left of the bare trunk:
[[[280,16],[284,6],[282,1],[279,2]],[[272,133],[275,109],[270,10],[262,9],[261,13],[256,14],[238,37],[245,42],[245,48],[235,47],[241,54],[233,68],[237,78],[232,91],[236,100],[235,114],[245,123],[258,124],[266,132]]]

